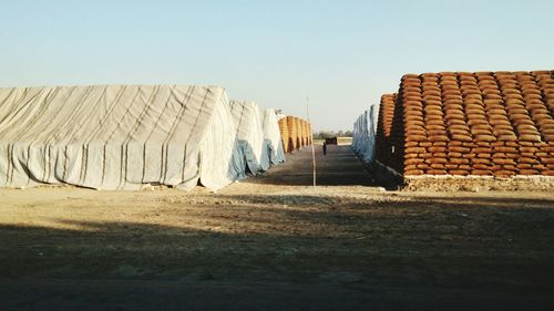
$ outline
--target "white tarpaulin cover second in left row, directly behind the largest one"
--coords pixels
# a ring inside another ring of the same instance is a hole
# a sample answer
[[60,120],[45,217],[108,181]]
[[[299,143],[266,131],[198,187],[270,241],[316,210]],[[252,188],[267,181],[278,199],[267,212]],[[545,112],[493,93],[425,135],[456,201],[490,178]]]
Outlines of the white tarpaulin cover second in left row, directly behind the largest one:
[[248,169],[254,175],[267,170],[269,168],[269,154],[264,142],[260,108],[256,103],[249,101],[232,101],[230,108],[237,126],[238,145]]

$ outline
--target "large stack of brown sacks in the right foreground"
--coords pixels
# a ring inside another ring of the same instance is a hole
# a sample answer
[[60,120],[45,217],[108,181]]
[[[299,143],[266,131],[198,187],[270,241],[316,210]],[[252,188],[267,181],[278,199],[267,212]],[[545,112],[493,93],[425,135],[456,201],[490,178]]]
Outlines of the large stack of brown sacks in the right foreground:
[[404,176],[554,176],[553,107],[552,71],[407,74],[390,166]]

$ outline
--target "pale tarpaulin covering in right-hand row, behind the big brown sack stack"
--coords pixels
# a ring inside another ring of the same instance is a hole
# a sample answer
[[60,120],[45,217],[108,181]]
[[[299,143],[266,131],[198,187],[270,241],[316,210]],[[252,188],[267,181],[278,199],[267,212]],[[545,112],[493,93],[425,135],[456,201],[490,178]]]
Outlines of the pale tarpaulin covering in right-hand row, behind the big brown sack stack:
[[379,105],[371,105],[353,124],[352,149],[365,162],[376,158],[376,132]]

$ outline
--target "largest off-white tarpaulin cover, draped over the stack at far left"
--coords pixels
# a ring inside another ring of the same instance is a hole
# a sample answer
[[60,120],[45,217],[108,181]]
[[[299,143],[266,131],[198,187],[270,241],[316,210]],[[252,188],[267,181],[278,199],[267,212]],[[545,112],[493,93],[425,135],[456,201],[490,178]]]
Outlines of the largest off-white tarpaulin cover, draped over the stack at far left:
[[222,188],[244,172],[224,89],[0,89],[0,186]]

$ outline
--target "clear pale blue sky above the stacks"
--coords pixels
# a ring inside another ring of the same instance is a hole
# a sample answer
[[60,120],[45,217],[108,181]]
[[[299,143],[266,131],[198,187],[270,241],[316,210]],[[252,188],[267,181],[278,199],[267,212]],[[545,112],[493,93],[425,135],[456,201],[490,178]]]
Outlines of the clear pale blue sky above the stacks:
[[215,84],[349,129],[412,72],[554,69],[554,1],[1,0],[0,85]]

